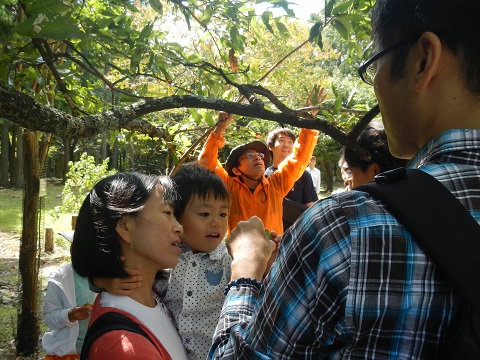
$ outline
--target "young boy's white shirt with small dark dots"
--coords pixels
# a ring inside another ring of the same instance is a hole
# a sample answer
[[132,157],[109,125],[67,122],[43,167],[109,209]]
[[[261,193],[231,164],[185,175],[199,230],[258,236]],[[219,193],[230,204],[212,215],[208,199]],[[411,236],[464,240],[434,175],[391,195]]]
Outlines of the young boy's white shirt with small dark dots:
[[[188,247],[172,269],[163,299],[177,322],[187,355],[192,360],[206,359],[230,282],[232,259],[225,243],[211,253],[194,254]],[[162,293],[162,280],[154,288]],[[164,292],[164,291],[163,291]]]

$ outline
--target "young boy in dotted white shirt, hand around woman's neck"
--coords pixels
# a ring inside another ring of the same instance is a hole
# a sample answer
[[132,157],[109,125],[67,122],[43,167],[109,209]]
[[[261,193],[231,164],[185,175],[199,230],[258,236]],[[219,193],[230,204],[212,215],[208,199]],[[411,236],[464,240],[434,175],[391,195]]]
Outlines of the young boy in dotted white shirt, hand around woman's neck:
[[[180,195],[174,212],[183,226],[184,252],[170,275],[155,281],[154,289],[172,313],[189,358],[206,359],[231,274],[232,260],[222,241],[228,227],[229,194],[220,177],[198,165],[182,166],[172,180]],[[125,295],[137,280],[132,276],[94,283]]]

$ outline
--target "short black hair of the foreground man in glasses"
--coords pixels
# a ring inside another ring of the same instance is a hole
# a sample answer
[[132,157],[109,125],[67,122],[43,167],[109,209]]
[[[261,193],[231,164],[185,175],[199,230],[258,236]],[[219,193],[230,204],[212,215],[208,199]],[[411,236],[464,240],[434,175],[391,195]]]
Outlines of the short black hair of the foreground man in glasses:
[[377,0],[372,11],[372,28],[379,50],[412,39],[392,52],[392,80],[402,77],[406,56],[418,37],[431,31],[458,56],[459,71],[467,89],[480,94],[478,19],[478,0]]

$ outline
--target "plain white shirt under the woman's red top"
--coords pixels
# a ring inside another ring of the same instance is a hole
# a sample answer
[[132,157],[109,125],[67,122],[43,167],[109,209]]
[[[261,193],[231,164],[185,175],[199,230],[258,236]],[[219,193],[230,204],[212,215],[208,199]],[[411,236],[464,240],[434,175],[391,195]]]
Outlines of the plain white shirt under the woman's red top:
[[128,296],[103,292],[100,305],[114,307],[132,314],[157,337],[173,360],[187,359],[177,329],[172,323],[167,308],[159,299],[157,299],[157,306],[151,308]]

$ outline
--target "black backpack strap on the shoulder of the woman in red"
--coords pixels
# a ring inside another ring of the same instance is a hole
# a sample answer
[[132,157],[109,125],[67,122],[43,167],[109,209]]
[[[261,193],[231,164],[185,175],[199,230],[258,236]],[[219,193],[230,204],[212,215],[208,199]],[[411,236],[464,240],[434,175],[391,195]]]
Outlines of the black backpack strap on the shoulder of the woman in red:
[[133,320],[129,319],[125,315],[112,311],[99,316],[88,328],[87,333],[85,334],[85,340],[83,342],[80,360],[87,359],[90,347],[97,338],[113,330],[127,330],[129,332],[140,334],[143,337],[147,338],[148,341],[150,341],[155,346],[147,333],[143,331],[137,323],[135,323]]

